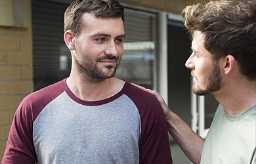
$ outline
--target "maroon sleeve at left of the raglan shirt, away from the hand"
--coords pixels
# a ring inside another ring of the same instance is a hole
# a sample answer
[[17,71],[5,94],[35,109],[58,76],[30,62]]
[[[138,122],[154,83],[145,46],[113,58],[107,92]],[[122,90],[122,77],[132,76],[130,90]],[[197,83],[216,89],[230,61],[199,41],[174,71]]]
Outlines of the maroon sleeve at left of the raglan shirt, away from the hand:
[[37,162],[33,144],[33,122],[43,108],[64,91],[66,79],[26,96],[12,121],[2,164],[34,164]]

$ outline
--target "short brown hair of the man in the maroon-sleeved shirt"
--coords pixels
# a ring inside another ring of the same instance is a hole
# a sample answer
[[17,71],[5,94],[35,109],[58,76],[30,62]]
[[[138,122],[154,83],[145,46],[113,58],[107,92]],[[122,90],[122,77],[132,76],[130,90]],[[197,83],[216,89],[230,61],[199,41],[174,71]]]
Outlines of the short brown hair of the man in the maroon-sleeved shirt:
[[85,12],[102,18],[121,17],[124,22],[123,10],[123,6],[116,0],[76,0],[64,13],[64,32],[71,30],[75,36],[79,35],[83,26],[81,17]]

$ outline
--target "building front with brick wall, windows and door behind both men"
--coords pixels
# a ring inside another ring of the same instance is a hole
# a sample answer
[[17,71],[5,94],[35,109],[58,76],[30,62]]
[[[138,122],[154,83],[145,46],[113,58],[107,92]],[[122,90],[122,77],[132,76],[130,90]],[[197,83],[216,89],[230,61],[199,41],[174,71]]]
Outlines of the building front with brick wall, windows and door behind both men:
[[[64,10],[71,2],[0,0],[0,160],[22,98],[69,75],[70,52],[62,36]],[[190,71],[184,67],[190,39],[180,13],[194,1],[120,2],[127,37],[116,76],[160,91],[172,110],[203,135],[217,104],[190,92]],[[174,163],[190,163],[171,137],[170,145]]]

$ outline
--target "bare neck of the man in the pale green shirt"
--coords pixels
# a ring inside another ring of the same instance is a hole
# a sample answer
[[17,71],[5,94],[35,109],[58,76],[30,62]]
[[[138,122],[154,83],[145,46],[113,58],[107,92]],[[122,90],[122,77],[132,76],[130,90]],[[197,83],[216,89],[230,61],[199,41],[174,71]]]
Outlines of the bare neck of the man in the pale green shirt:
[[213,94],[228,114],[237,115],[255,106],[256,81],[236,79]]

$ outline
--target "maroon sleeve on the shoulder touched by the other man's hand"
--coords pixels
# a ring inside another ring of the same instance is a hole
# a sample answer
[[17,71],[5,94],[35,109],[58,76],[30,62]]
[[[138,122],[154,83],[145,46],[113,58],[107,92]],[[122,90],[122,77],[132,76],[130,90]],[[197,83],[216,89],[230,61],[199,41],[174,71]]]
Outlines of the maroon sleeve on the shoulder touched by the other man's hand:
[[160,103],[152,94],[133,86],[129,87],[127,94],[135,102],[140,113],[140,163],[173,163],[167,123]]

